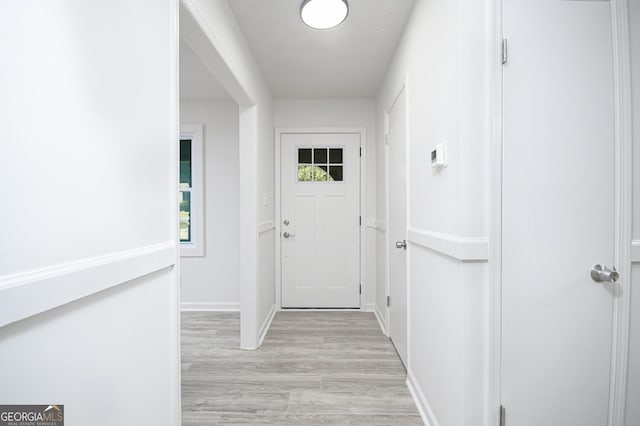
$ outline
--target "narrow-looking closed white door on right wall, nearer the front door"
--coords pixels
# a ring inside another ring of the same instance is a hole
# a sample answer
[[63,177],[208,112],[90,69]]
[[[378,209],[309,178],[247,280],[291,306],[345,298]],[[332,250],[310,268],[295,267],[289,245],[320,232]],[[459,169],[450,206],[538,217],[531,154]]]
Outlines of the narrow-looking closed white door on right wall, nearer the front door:
[[407,365],[407,172],[404,90],[389,112],[389,337]]

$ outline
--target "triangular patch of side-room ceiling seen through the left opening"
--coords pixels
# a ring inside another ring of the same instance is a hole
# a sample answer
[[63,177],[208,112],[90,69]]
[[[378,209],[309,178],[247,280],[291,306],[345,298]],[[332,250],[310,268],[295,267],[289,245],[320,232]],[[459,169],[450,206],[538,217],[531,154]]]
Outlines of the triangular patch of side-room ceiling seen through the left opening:
[[180,99],[231,99],[200,58],[180,40]]

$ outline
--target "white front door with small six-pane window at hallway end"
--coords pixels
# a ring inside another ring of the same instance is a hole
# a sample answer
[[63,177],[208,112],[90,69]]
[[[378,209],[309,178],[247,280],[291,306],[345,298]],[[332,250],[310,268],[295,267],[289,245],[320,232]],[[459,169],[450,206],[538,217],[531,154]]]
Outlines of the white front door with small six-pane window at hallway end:
[[360,307],[360,134],[283,133],[283,308]]

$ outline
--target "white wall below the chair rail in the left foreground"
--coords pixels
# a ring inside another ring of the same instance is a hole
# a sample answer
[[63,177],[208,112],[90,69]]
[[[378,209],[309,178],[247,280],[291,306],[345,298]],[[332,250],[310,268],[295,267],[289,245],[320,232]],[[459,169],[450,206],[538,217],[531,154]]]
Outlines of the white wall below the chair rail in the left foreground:
[[180,387],[170,375],[179,361],[169,356],[177,334],[167,333],[167,307],[177,305],[167,275],[146,275],[0,329],[2,403],[64,404],[69,425],[177,424]]

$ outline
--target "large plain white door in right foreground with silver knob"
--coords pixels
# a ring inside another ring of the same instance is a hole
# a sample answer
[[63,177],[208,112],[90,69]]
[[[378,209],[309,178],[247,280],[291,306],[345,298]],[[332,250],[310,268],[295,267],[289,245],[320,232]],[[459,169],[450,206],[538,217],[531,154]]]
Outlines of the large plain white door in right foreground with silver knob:
[[504,0],[506,424],[607,424],[614,127],[607,1]]

